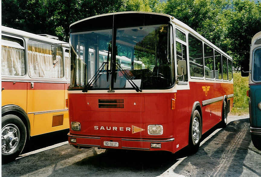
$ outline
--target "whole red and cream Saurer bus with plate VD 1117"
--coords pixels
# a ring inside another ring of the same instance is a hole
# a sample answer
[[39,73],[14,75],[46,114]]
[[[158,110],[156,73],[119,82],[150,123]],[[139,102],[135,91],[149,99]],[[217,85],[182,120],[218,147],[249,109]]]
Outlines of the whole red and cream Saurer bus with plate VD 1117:
[[[70,45],[71,145],[197,151],[202,134],[226,126],[232,58],[174,17],[118,12],[86,18],[70,25]],[[108,55],[101,62],[103,51]],[[117,56],[127,57],[130,67],[122,68]],[[135,61],[144,66],[135,68]]]

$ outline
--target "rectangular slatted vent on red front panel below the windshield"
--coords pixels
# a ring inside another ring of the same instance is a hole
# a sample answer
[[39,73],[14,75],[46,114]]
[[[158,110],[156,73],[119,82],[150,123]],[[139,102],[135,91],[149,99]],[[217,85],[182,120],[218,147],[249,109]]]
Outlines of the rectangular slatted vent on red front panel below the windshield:
[[99,108],[124,108],[123,99],[98,99]]

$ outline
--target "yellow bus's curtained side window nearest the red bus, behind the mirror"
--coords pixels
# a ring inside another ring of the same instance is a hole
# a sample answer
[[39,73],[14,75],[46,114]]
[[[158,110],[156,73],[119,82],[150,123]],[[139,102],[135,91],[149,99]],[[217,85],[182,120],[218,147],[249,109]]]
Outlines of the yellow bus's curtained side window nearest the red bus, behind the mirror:
[[53,68],[51,44],[28,40],[28,73],[31,77],[63,78],[63,52],[57,47]]

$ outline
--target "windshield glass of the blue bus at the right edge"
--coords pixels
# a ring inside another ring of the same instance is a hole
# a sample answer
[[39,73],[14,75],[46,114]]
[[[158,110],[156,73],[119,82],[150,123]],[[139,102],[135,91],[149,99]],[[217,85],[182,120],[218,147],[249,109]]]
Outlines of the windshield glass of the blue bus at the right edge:
[[261,81],[261,48],[255,51],[253,57],[253,80]]

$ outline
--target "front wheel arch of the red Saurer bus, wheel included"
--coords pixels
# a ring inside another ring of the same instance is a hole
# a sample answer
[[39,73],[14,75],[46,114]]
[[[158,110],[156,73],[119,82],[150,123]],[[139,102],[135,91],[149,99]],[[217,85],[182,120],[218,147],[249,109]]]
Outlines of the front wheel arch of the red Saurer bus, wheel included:
[[[193,138],[194,133],[197,134],[196,141]],[[200,103],[196,101],[192,107],[190,123],[189,123],[188,149],[190,150],[190,153],[193,154],[198,151],[201,136],[202,136],[202,109]]]

